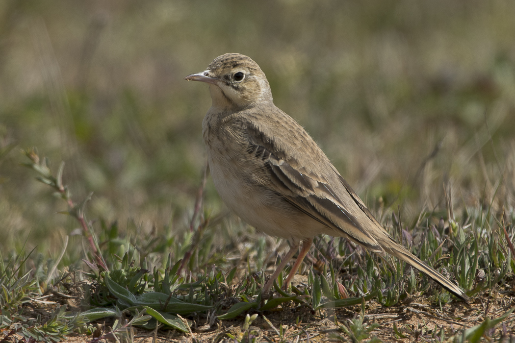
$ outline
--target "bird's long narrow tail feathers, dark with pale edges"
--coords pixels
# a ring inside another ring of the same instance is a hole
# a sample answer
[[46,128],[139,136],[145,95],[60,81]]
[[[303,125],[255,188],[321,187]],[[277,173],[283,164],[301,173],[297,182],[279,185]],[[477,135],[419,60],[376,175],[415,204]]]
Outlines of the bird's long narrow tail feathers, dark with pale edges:
[[404,247],[394,242],[393,239],[391,240],[394,244],[388,244],[388,246],[383,246],[386,252],[406,262],[412,267],[418,269],[420,272],[424,273],[427,277],[433,279],[436,283],[438,283],[440,286],[442,286],[443,288],[445,288],[461,300],[470,302],[470,298],[456,284],[449,281],[449,279],[438,273],[435,269],[431,268],[430,266],[422,262],[418,257],[411,254],[411,252],[406,250]]

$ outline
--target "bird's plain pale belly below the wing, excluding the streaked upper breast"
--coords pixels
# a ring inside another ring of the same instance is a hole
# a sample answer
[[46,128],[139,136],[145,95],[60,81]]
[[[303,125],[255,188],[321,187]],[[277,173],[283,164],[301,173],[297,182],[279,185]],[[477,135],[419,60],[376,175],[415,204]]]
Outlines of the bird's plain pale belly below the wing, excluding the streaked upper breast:
[[247,224],[270,236],[295,240],[312,238],[327,229],[277,193],[254,182],[237,161],[215,160],[209,152],[208,160],[222,201]]

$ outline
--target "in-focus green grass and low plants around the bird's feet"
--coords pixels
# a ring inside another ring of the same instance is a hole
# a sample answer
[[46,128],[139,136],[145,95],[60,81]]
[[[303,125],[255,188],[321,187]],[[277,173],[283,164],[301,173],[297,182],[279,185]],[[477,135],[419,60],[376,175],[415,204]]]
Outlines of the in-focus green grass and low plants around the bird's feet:
[[[72,333],[85,333],[94,335],[95,341],[111,336],[131,340],[133,327],[147,330],[167,328],[187,334],[191,333],[194,321],[198,320],[211,327],[217,320],[230,320],[255,311],[260,314],[284,311],[291,306],[309,309],[324,318],[327,316],[325,310],[361,303],[361,317],[353,319],[346,326],[338,325],[352,341],[363,341],[379,327],[376,323],[364,325],[365,301],[375,300],[391,307],[401,305],[407,298],[418,298],[421,294],[428,303],[440,308],[453,301],[450,294],[435,289],[430,280],[417,278],[414,270],[406,269],[403,262],[397,261],[392,265],[392,260],[369,255],[344,239],[329,237],[321,237],[316,242],[315,256],[325,263],[321,269],[311,269],[307,284],[300,287],[291,285],[289,290],[283,291],[281,275],[275,285],[276,296],[265,299],[260,291],[260,285],[265,283],[264,274],[251,265],[252,260],[263,259],[263,253],[259,253],[263,249],[262,240],[261,244],[254,244],[247,255],[243,254],[236,266],[228,269],[228,257],[237,256],[237,252],[241,254],[241,251],[237,251],[237,247],[221,248],[213,244],[217,232],[210,230],[211,218],[206,213],[194,213],[191,230],[185,231],[182,237],[165,239],[155,233],[142,236],[139,233],[138,237],[130,237],[118,232],[116,224],[108,227],[104,222],[98,225],[101,234],[97,237],[93,223],[85,215],[91,196],[75,203],[68,187],[62,183],[63,164],[54,175],[48,168],[47,158],[41,158],[36,150],[24,153],[29,159],[26,167],[35,170],[39,174],[37,179],[54,188],[54,194],[67,204],[68,210],[62,211],[62,214],[72,216],[79,223],[84,243],[89,243],[83,246],[85,255],[82,259],[88,272],[80,272],[74,267],[70,272],[58,271],[62,254],[32,272],[26,270],[30,254],[2,262],[0,329],[7,337],[19,334],[24,341],[51,341],[63,339]],[[448,204],[451,205],[450,201]],[[200,202],[196,209],[201,210]],[[454,213],[454,208],[448,208],[448,213]],[[490,208],[486,208],[475,217],[467,213],[464,218],[449,219],[447,227],[444,227],[445,222],[441,219],[438,227],[419,224],[419,227],[402,228],[393,213],[394,226],[391,228],[402,230],[411,243],[416,242],[416,233],[418,236],[423,234],[418,248],[413,249],[414,253],[456,280],[477,301],[485,292],[506,288],[513,279],[515,259],[512,258],[513,247],[510,247],[513,232],[510,237],[508,231],[503,229],[506,220],[510,221],[507,226],[513,227],[513,217],[506,216],[505,212],[500,214],[499,220]],[[418,221],[429,223],[432,219],[436,220],[434,213],[420,213]],[[244,235],[246,233],[242,232]],[[246,243],[248,237],[240,238],[240,243],[242,241]],[[234,239],[232,243],[235,243]],[[348,258],[341,260],[337,256]],[[267,265],[264,260],[256,264]],[[38,269],[39,275],[35,273]],[[44,319],[27,308],[27,304],[34,306],[39,299],[46,298],[44,295],[49,294],[50,290],[57,299],[59,296],[74,298],[77,308],[73,312],[66,312],[66,306],[54,302],[53,309],[47,310]],[[512,292],[509,286],[503,291],[506,292]],[[493,329],[512,311],[494,319],[486,316],[483,324],[457,333],[456,339],[467,337],[470,341],[476,341],[483,336],[495,338]],[[129,319],[123,321],[122,318],[126,316]],[[249,331],[249,326],[256,316],[246,315],[243,333],[227,335],[237,341],[255,341],[256,337]],[[110,317],[116,318],[111,329],[107,333],[95,334],[90,322]],[[399,332],[397,328],[395,330]],[[445,335],[444,330],[440,333],[442,337]],[[507,336],[501,333],[499,338],[503,337]],[[279,338],[281,341],[284,339],[282,333]],[[344,336],[339,335],[332,338],[345,340]],[[374,336],[370,341],[380,339]]]

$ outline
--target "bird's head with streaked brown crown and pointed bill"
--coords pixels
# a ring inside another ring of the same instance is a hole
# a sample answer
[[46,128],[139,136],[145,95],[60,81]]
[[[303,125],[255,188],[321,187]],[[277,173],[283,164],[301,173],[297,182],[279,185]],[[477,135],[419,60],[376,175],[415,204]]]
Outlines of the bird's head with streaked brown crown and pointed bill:
[[272,101],[265,73],[250,57],[240,53],[218,56],[201,73],[184,78],[209,84],[213,107],[236,110]]

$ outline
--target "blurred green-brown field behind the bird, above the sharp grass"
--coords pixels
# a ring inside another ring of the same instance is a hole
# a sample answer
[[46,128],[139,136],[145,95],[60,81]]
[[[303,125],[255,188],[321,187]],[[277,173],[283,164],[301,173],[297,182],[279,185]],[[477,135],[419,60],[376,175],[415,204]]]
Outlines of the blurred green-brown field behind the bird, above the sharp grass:
[[[188,0],[0,2],[2,249],[52,250],[77,224],[20,164],[65,162],[89,219],[184,229],[211,99],[186,82],[240,52],[263,69],[365,202],[406,218],[513,205],[515,2]],[[205,208],[225,207],[208,179]],[[98,228],[98,227],[97,227]]]

